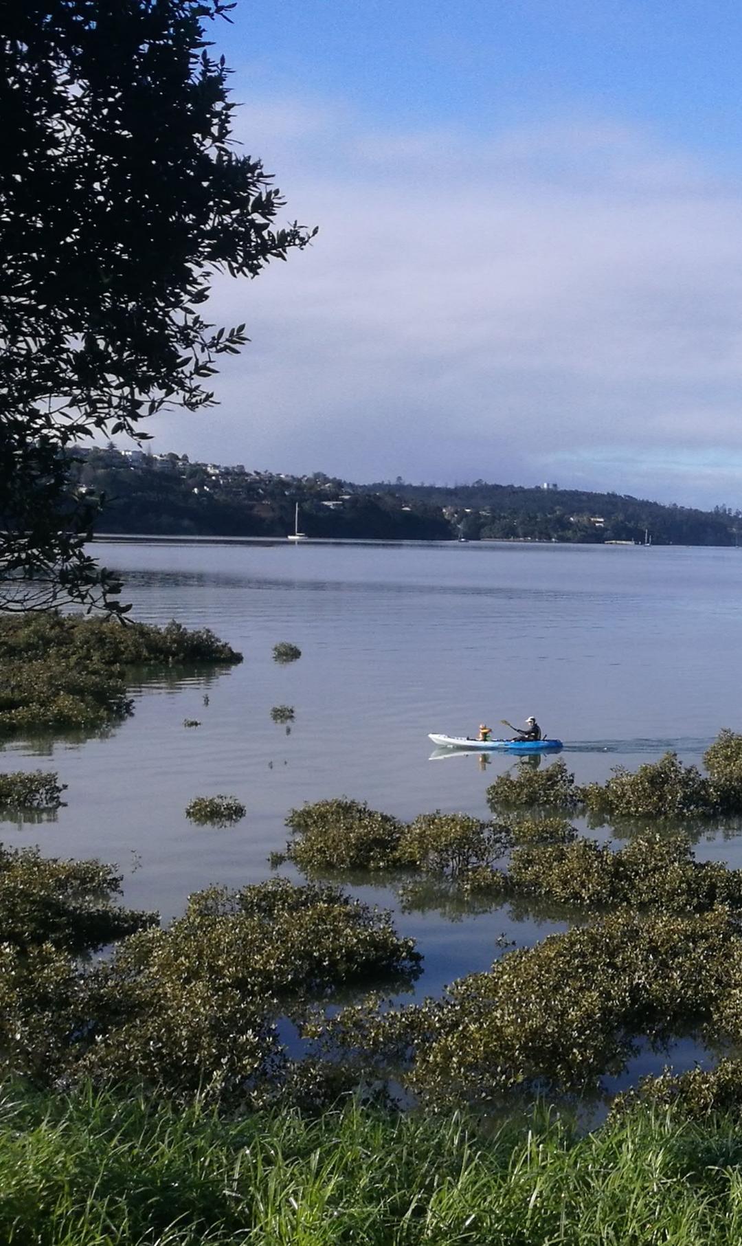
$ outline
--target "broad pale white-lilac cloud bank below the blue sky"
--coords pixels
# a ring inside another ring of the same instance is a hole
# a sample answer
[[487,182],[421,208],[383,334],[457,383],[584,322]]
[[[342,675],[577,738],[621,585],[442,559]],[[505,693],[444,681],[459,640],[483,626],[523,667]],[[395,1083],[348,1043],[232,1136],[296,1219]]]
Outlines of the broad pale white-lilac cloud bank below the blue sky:
[[320,235],[255,284],[217,283],[212,318],[247,320],[253,345],[217,412],[161,421],[162,444],[356,478],[649,476],[680,501],[718,480],[732,500],[740,186],[584,117],[483,142],[264,101],[240,126]]

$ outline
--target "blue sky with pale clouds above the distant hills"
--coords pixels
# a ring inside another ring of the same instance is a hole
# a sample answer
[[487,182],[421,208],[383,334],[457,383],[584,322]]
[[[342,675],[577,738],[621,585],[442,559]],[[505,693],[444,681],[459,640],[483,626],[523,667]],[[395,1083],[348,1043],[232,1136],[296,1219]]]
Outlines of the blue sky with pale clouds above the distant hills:
[[156,450],[742,506],[742,6],[239,0],[235,137],[311,248]]

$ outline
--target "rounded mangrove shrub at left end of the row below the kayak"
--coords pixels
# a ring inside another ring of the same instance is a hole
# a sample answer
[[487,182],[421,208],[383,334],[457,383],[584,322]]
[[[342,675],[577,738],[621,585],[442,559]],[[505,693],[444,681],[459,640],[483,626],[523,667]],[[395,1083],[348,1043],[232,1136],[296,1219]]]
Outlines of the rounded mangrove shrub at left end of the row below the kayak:
[[293,809],[286,855],[301,870],[387,870],[396,863],[402,824],[365,801],[317,800]]

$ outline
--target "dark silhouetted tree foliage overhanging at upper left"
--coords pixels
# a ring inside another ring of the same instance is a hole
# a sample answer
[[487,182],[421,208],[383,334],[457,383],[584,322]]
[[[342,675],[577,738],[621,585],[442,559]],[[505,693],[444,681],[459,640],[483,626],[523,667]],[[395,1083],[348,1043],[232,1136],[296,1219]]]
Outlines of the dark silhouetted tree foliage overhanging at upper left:
[[214,401],[237,354],[200,309],[214,273],[256,277],[312,232],[230,143],[207,22],[222,0],[22,0],[0,41],[0,608],[92,604],[117,586],[83,549],[101,505],[68,447],[147,435]]

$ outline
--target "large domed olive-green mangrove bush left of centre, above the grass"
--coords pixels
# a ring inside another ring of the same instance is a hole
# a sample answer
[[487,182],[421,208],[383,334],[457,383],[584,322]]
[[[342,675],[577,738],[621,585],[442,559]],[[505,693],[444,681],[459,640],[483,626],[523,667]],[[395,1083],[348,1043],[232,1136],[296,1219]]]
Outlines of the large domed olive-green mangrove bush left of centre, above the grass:
[[167,931],[124,939],[91,976],[98,1018],[78,1074],[245,1099],[286,1069],[275,1020],[339,987],[415,976],[412,939],[335,887],[285,880],[192,896]]

